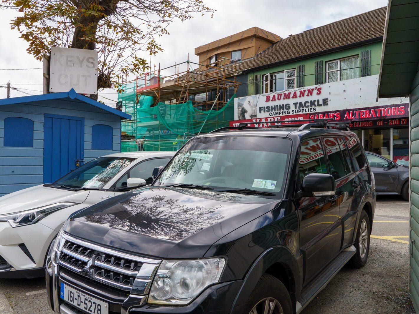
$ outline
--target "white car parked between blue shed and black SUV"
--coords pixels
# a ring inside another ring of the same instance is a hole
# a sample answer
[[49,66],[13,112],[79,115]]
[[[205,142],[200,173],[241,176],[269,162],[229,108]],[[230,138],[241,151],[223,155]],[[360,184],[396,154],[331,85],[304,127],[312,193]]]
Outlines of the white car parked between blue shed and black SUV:
[[0,278],[44,276],[49,245],[77,211],[153,182],[175,152],[127,152],[96,158],[52,184],[0,197]]

